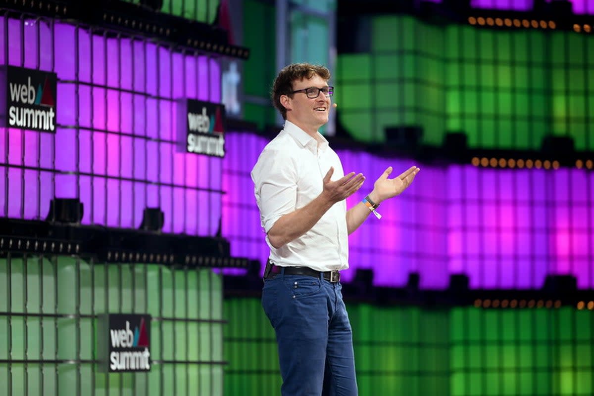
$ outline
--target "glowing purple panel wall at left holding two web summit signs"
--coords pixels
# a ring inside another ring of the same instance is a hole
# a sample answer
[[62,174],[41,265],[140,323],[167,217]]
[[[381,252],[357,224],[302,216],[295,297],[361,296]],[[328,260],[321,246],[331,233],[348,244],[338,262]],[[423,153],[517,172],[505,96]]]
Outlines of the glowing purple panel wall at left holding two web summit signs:
[[176,100],[220,102],[216,59],[140,37],[52,20],[0,18],[0,65],[57,75],[56,132],[0,127],[0,215],[45,219],[78,198],[82,223],[138,228],[146,207],[163,232],[214,235],[222,159],[185,152]]

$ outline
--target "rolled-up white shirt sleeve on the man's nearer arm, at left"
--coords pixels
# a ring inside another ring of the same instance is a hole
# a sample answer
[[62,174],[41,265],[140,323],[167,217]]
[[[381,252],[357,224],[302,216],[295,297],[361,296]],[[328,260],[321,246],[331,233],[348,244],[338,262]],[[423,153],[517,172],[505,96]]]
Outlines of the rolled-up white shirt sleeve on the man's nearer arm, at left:
[[295,163],[292,158],[286,158],[274,149],[266,149],[260,154],[251,177],[254,181],[256,202],[260,208],[261,225],[268,233],[280,217],[295,210]]

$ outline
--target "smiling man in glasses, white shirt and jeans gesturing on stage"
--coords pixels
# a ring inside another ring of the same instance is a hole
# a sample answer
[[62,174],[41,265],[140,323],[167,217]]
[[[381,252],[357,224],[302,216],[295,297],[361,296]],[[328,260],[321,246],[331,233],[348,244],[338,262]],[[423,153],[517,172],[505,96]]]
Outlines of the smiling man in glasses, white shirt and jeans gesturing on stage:
[[283,396],[357,395],[352,331],[342,300],[348,238],[384,200],[402,193],[419,168],[388,178],[389,167],[362,202],[345,199],[364,175],[344,174],[318,129],[328,122],[330,72],[323,66],[286,66],[272,99],[285,127],[252,170],[261,223],[270,247],[262,305],[276,331]]

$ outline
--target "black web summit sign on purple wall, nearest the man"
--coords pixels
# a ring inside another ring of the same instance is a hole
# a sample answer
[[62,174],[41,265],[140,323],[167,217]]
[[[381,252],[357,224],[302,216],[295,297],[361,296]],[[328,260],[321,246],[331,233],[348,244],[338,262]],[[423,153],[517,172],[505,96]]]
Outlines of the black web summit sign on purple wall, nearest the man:
[[185,99],[178,102],[178,134],[182,151],[225,157],[225,106]]

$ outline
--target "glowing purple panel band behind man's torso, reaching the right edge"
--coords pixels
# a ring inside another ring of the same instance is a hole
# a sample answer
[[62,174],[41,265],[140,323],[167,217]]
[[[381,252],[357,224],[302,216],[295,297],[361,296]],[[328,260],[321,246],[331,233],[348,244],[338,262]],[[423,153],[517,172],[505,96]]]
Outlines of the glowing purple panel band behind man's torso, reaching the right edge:
[[[268,138],[228,134],[223,165],[223,237],[231,254],[266,263],[250,171]],[[388,167],[413,163],[335,148],[345,173],[367,180],[347,199],[355,205]],[[471,288],[541,288],[549,274],[571,274],[579,288],[594,288],[594,172],[577,168],[496,169],[473,165],[415,164],[421,173],[401,196],[349,237],[350,269],[373,269],[375,285],[404,286],[419,273],[421,288],[447,288],[451,274],[466,274]]]

